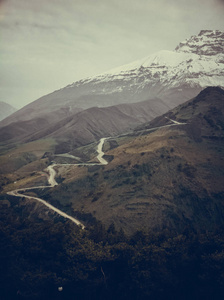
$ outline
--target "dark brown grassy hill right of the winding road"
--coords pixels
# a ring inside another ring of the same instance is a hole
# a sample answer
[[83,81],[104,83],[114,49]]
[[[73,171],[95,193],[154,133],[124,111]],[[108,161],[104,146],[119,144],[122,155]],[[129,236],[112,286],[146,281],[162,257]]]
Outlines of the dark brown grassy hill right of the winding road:
[[64,171],[63,182],[44,197],[72,207],[79,218],[91,214],[127,233],[224,225],[222,89],[203,90],[127,139],[108,139],[105,149],[110,148],[107,166],[85,175]]

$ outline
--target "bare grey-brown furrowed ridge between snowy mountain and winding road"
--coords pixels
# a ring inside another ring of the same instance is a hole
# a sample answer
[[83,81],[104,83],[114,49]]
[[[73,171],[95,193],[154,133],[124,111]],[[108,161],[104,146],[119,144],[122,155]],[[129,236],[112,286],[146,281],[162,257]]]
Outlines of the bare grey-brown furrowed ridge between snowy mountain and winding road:
[[[24,143],[43,138],[56,141],[55,151],[64,153],[98,141],[104,136],[115,136],[152,120],[168,107],[163,101],[151,99],[139,103],[120,104],[105,108],[92,107],[81,112],[60,111],[64,118],[57,121],[54,113],[42,118],[18,121],[0,128],[3,144]],[[58,116],[59,112],[55,113]]]

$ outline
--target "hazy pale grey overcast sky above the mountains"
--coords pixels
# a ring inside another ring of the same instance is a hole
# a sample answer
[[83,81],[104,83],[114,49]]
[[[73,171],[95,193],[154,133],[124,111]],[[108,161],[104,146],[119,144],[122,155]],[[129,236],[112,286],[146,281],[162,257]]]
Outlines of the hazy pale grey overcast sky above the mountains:
[[17,108],[201,29],[224,30],[223,0],[0,0],[0,101]]

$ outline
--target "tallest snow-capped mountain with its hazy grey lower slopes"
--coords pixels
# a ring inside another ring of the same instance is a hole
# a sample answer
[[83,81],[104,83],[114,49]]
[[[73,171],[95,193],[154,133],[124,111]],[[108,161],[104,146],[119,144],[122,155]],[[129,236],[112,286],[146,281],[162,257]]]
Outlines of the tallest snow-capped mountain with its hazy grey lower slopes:
[[[160,51],[95,77],[82,79],[46,95],[0,126],[42,117],[58,109],[87,109],[158,98],[167,107],[196,96],[207,86],[224,87],[224,33],[202,30],[175,51]],[[162,114],[163,112],[161,112]],[[59,120],[59,118],[58,118]]]

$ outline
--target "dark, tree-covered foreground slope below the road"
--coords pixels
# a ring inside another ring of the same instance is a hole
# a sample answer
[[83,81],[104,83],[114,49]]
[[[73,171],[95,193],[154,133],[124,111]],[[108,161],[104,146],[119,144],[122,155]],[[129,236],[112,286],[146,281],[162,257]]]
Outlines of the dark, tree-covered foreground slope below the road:
[[223,299],[223,229],[127,238],[113,226],[83,231],[46,212],[43,222],[27,214],[38,204],[3,199],[1,300]]

